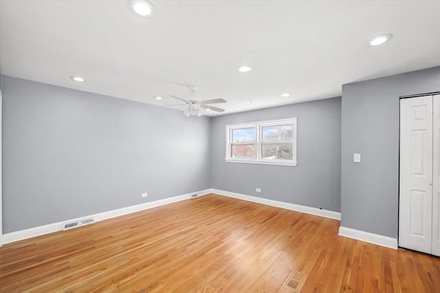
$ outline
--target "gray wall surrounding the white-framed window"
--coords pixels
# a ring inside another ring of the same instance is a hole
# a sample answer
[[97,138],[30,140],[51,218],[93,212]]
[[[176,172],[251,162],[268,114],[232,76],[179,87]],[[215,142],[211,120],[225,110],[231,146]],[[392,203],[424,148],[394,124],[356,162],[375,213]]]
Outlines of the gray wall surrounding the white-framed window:
[[[298,118],[298,166],[225,162],[225,126]],[[340,211],[341,98],[212,119],[212,188]],[[256,193],[255,188],[261,188]]]

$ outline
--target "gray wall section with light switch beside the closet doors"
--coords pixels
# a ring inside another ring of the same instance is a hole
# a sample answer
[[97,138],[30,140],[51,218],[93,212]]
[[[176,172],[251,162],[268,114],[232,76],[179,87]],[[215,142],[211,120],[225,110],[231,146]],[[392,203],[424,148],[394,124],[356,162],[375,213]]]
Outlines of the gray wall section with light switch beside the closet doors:
[[341,226],[397,238],[399,96],[434,91],[440,67],[342,86]]

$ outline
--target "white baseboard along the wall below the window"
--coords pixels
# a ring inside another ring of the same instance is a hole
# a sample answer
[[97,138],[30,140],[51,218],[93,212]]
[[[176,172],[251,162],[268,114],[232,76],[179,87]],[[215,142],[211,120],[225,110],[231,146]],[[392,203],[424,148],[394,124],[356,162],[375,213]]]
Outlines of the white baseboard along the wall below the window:
[[227,197],[233,197],[236,199],[242,199],[247,202],[255,202],[257,204],[265,204],[266,206],[274,206],[276,208],[285,208],[286,210],[295,210],[296,212],[306,213],[310,215],[316,215],[320,217],[326,217],[330,219],[337,219],[340,221],[341,213],[333,212],[332,210],[321,210],[320,208],[311,208],[310,206],[300,206],[299,204],[290,204],[289,202],[278,202],[273,199],[266,199],[262,197],[254,197],[251,195],[243,195],[241,193],[231,193],[230,191],[220,191],[218,189],[211,188],[208,191],[217,195],[223,195]]

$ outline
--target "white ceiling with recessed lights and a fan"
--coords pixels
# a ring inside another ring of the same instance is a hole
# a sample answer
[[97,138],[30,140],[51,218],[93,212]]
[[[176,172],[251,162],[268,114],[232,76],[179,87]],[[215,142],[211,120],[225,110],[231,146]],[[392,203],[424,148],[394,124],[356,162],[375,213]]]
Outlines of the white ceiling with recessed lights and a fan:
[[[126,0],[0,0],[0,72],[153,105],[197,85],[198,98],[224,98],[214,106],[234,113],[440,65],[440,1],[151,3],[157,14],[142,19]],[[385,33],[391,42],[366,46]],[[252,72],[236,71],[244,64]]]

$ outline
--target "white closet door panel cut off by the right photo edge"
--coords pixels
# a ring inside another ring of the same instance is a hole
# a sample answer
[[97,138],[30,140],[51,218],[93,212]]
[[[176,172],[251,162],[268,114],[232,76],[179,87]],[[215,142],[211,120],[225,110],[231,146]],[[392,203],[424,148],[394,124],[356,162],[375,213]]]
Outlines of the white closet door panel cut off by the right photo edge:
[[440,257],[440,95],[432,98],[432,254]]

